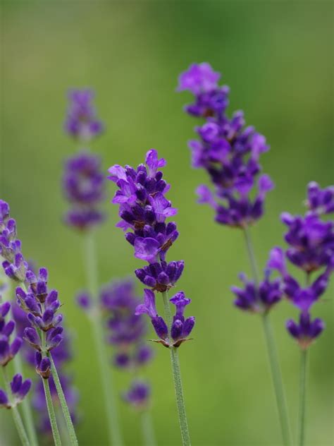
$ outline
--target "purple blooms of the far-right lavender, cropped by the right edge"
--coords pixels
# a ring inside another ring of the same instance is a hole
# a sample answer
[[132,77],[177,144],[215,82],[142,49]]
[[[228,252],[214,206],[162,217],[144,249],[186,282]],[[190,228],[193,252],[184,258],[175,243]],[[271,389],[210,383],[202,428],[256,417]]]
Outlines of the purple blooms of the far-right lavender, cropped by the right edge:
[[[309,183],[306,203],[309,210],[304,216],[281,215],[289,248],[273,248],[268,262],[279,272],[285,296],[300,311],[299,323],[288,320],[286,327],[302,349],[307,349],[324,328],[323,320],[311,319],[311,307],[328,288],[334,270],[334,222],[321,219],[334,212],[333,186],[321,190],[318,184]],[[305,273],[306,285],[289,274],[287,261]]]

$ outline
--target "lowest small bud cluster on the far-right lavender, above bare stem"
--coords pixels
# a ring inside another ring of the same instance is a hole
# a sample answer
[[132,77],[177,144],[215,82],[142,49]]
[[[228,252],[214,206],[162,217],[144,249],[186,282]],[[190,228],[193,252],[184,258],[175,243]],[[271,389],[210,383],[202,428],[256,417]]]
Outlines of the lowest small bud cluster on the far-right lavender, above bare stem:
[[290,335],[297,339],[299,346],[304,350],[321,335],[325,325],[318,318],[311,321],[309,313],[300,313],[299,324],[295,323],[294,320],[288,320],[286,327]]

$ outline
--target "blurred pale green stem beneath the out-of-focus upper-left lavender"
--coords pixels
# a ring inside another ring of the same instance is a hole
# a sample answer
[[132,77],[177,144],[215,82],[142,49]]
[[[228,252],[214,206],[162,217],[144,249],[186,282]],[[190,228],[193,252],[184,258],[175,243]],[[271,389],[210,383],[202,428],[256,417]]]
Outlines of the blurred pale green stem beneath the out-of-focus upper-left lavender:
[[92,299],[95,305],[92,310],[92,331],[94,335],[95,350],[99,363],[99,373],[101,385],[103,389],[104,406],[106,410],[106,421],[108,426],[109,442],[113,446],[121,446],[123,444],[120,425],[118,421],[118,411],[116,407],[116,397],[113,390],[113,379],[111,376],[108,356],[105,349],[105,339],[103,332],[103,321],[101,320],[101,312],[99,311],[98,281],[97,281],[97,256],[95,253],[95,241],[92,231],[88,232],[85,237],[85,270],[87,282]]

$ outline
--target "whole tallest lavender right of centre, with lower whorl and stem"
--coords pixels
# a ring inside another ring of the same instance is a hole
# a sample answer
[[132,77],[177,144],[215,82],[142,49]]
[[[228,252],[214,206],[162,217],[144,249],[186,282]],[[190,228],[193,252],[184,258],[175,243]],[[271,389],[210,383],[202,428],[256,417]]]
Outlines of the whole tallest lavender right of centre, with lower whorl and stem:
[[268,318],[268,311],[273,303],[280,300],[280,293],[278,285],[269,281],[269,272],[265,273],[264,282],[260,282],[249,236],[249,226],[263,215],[266,193],[273,188],[270,177],[260,175],[259,157],[269,147],[266,138],[254,127],[245,127],[242,111],[236,111],[228,118],[229,88],[218,86],[220,78],[221,74],[214,72],[206,63],[193,64],[179,78],[178,91],[189,90],[194,95],[194,102],[185,110],[192,116],[205,119],[205,123],[196,128],[199,139],[191,140],[189,146],[193,167],[206,170],[214,191],[207,186],[199,186],[197,193],[199,203],[206,203],[214,209],[216,222],[240,228],[245,233],[253,280],[249,282],[242,278],[245,290],[234,290],[238,294],[236,305],[262,315],[283,441],[285,445],[291,445],[283,381]]

